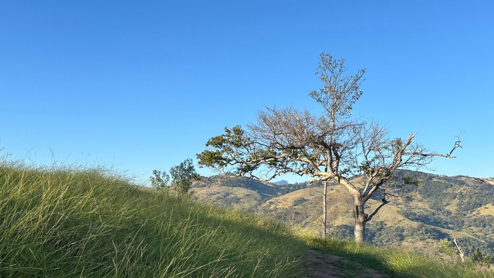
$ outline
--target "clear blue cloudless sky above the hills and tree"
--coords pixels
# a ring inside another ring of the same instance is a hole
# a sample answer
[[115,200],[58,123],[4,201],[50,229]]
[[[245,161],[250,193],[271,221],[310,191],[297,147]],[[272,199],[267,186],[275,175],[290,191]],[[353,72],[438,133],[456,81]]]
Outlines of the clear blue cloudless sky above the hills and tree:
[[493,3],[2,0],[0,147],[145,178],[265,105],[319,111],[324,51],[367,68],[356,114],[442,152],[464,130],[436,173],[492,177]]

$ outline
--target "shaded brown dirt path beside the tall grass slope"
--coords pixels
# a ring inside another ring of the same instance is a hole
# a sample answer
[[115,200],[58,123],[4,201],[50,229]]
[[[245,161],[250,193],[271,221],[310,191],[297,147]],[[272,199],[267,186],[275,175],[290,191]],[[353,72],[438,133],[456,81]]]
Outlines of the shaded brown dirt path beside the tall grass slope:
[[311,278],[387,278],[377,271],[359,263],[317,250],[309,250],[305,257],[305,267]]

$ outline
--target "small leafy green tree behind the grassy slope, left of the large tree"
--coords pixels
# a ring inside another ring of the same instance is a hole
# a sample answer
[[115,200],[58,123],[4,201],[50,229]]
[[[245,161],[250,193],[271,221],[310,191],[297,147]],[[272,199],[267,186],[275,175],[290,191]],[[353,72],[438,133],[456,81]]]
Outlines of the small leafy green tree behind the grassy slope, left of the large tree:
[[162,173],[154,170],[153,175],[154,177],[149,177],[152,188],[186,198],[190,198],[194,194],[194,191],[189,191],[192,182],[200,180],[190,158],[170,168],[171,179],[165,171]]

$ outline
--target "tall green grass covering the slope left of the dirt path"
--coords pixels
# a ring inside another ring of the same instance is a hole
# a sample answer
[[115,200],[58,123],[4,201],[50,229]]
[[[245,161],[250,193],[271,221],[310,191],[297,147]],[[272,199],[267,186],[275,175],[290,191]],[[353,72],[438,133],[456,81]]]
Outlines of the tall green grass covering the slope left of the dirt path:
[[0,165],[0,277],[300,277],[291,233],[105,169]]

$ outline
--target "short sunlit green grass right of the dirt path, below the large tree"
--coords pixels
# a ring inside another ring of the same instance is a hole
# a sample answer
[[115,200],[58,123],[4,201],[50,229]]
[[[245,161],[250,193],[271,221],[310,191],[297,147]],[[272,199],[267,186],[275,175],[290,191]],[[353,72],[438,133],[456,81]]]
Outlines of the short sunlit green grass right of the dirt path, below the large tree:
[[[494,272],[491,269],[479,269],[471,264],[447,264],[438,258],[402,249],[356,244],[348,240],[324,240],[311,236],[305,236],[305,241],[315,249],[345,257],[351,262],[377,270],[390,277],[494,278]],[[358,268],[353,270],[355,269]]]

